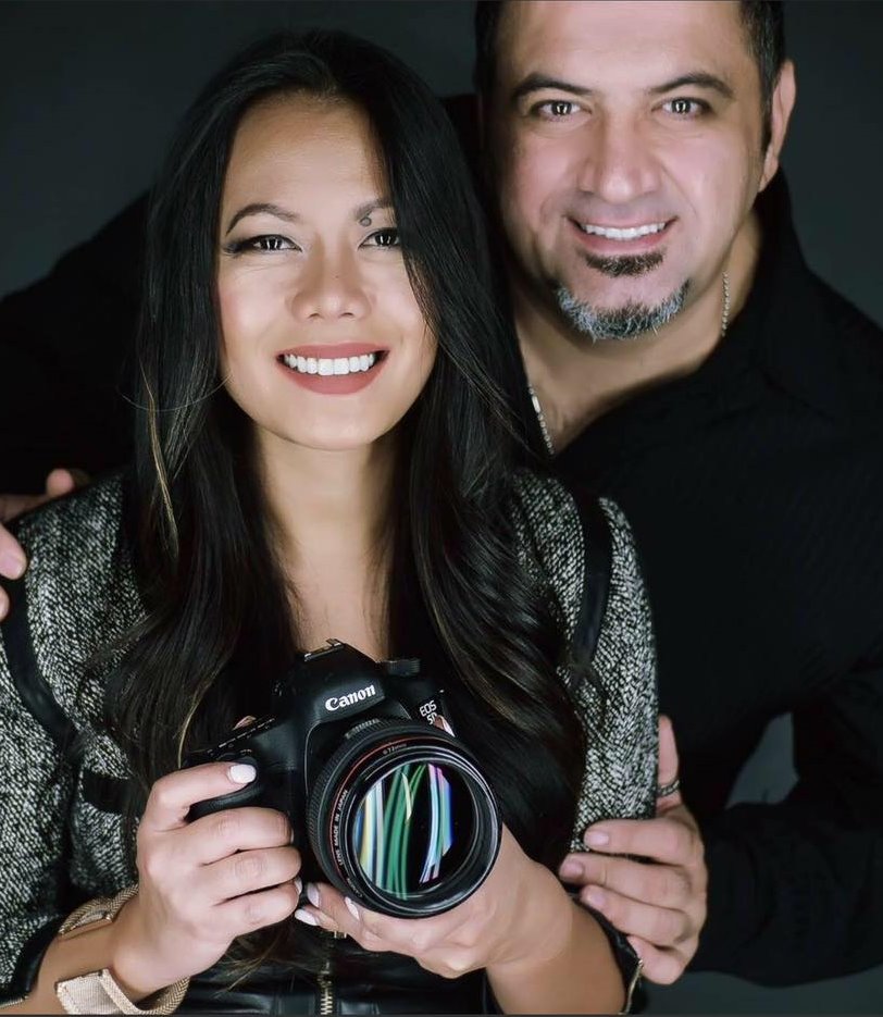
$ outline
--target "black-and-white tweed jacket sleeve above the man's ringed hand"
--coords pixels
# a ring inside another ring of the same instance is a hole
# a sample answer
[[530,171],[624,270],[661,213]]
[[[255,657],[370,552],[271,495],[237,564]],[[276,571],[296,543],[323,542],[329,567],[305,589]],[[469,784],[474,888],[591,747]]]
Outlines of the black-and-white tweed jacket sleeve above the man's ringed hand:
[[614,501],[526,470],[515,479],[515,496],[522,554],[545,573],[574,658],[590,660],[592,680],[573,690],[590,733],[571,845],[579,851],[592,822],[650,816],[655,808],[650,608],[632,529]]

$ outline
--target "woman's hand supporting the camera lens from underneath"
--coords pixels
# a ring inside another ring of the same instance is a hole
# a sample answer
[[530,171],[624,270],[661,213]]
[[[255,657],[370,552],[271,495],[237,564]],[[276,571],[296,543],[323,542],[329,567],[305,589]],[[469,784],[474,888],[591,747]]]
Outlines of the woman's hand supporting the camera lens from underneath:
[[457,907],[432,918],[393,918],[368,911],[326,883],[307,888],[307,923],[345,932],[370,951],[414,957],[428,971],[456,978],[477,968],[542,964],[562,951],[575,911],[556,877],[533,861],[503,828],[490,875]]

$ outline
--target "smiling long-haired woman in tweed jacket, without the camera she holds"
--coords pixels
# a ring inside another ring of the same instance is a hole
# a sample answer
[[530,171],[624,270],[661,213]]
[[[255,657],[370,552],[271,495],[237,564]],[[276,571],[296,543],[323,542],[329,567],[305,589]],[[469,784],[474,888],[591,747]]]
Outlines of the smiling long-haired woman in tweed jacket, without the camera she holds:
[[[18,529],[33,566],[0,655],[10,1012],[623,1004],[610,930],[552,870],[588,819],[652,809],[648,611],[606,506],[587,673],[595,523],[517,470],[489,278],[451,128],[387,54],[274,38],[196,102],[152,199],[133,474]],[[256,773],[185,756],[262,714],[328,637],[444,673],[500,801],[494,868],[446,914],[304,888],[275,810],[187,820]]]

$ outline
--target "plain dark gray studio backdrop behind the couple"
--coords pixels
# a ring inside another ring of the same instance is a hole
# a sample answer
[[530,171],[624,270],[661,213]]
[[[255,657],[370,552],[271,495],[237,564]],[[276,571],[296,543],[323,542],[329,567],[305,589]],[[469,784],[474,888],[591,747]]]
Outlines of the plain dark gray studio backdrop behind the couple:
[[[798,101],[784,164],[805,250],[883,323],[883,3],[795,0],[787,16]],[[245,42],[283,26],[347,28],[447,95],[470,87],[471,20],[471,3],[450,0],[0,2],[0,295],[46,273],[148,185],[176,119]],[[736,796],[781,796],[788,747],[788,724],[776,722]],[[883,968],[776,990],[687,975],[654,989],[650,1010],[880,1013]]]

